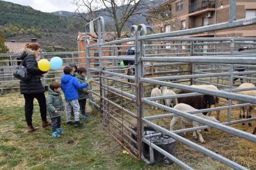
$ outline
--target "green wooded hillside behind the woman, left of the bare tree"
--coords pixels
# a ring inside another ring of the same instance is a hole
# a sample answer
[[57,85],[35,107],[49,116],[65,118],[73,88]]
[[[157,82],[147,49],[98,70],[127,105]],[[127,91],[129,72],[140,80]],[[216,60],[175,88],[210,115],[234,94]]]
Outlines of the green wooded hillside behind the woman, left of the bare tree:
[[6,41],[30,42],[37,38],[46,49],[77,49],[77,32],[81,30],[78,18],[63,17],[31,7],[0,1],[0,31]]

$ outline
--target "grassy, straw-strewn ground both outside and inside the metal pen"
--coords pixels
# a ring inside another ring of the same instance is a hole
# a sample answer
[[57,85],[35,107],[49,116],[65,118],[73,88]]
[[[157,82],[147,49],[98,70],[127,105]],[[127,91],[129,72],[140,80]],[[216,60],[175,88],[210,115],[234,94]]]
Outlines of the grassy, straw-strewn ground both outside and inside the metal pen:
[[[81,128],[66,126],[65,116],[62,116],[64,134],[53,139],[51,127],[41,128],[38,103],[34,103],[33,124],[40,126],[40,130],[28,134],[23,96],[19,92],[0,95],[1,169],[181,169],[177,164],[147,165],[130,155],[124,155],[121,146],[103,129],[98,110],[88,113],[90,118],[82,121],[85,126]],[[150,108],[145,106],[145,111]],[[160,113],[163,111],[154,111],[155,115]],[[224,121],[226,113],[222,112],[221,115]],[[168,129],[170,120],[166,118],[154,122]],[[247,132],[253,129],[241,124],[233,127]],[[246,168],[256,169],[255,143],[216,129],[202,134],[206,144],[193,139],[192,132],[186,138]],[[176,156],[194,169],[231,169],[178,141]]]

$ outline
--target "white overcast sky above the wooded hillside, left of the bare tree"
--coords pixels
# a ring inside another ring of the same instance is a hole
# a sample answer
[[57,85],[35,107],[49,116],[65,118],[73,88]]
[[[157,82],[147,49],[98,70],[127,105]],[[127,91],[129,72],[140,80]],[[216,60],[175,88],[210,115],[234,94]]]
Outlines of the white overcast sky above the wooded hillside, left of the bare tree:
[[33,9],[42,12],[56,12],[58,10],[66,10],[74,12],[76,6],[72,4],[72,0],[4,0],[22,6],[30,6]]

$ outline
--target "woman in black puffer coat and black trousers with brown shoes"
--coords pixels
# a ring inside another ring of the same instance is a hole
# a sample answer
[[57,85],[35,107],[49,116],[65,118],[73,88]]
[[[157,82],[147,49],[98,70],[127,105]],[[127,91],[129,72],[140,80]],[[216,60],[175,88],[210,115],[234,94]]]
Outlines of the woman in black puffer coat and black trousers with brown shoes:
[[31,78],[26,81],[20,80],[20,93],[23,94],[25,99],[25,118],[28,125],[28,132],[36,131],[39,127],[33,127],[32,115],[33,115],[33,100],[38,100],[40,106],[40,113],[42,119],[42,126],[47,127],[51,125],[51,121],[47,121],[46,118],[46,98],[45,88],[41,83],[40,76],[45,73],[41,71],[36,62],[36,57],[40,55],[40,46],[37,43],[26,44],[23,49],[20,59],[23,65],[27,67],[27,71],[31,74]]

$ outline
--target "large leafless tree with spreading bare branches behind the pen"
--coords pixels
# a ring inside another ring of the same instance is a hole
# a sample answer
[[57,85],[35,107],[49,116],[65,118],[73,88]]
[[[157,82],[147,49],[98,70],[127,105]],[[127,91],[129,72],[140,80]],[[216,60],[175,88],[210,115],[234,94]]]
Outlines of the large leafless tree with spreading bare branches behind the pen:
[[[160,1],[156,1],[158,3]],[[86,22],[106,16],[111,18],[113,25],[108,31],[115,31],[116,37],[121,38],[122,31],[129,31],[127,25],[134,24],[135,17],[150,17],[146,11],[152,6],[145,0],[74,0],[77,6],[75,12]]]

